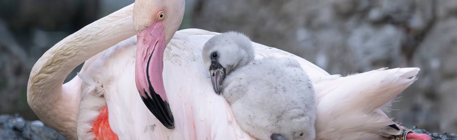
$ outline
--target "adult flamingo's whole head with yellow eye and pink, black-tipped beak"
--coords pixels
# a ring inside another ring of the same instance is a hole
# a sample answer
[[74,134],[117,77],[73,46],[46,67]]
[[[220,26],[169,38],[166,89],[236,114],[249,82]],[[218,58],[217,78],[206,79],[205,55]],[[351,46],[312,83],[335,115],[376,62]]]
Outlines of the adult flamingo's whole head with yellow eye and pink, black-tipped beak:
[[175,128],[163,83],[163,56],[184,15],[184,0],[135,0],[135,82],[144,104],[168,129]]

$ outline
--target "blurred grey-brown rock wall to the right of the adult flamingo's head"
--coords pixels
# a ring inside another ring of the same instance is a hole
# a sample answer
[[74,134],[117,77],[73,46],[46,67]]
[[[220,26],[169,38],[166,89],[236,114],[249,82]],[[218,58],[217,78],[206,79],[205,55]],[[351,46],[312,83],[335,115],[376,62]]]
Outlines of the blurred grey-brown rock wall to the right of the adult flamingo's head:
[[192,23],[239,31],[330,74],[420,67],[389,115],[411,128],[457,132],[455,0],[196,0]]

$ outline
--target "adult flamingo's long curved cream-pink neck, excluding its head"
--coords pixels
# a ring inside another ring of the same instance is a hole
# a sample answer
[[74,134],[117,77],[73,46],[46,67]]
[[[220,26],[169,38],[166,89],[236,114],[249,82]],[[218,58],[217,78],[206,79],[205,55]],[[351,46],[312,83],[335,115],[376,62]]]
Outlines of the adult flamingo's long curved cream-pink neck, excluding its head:
[[[64,38],[38,59],[30,73],[27,101],[44,123],[60,129],[58,125],[63,124],[58,121],[63,118],[58,117],[72,110],[68,108],[79,107],[80,95],[63,89],[64,79],[90,57],[135,35],[132,13],[133,4],[103,17]],[[77,113],[69,114],[64,117],[76,127]]]

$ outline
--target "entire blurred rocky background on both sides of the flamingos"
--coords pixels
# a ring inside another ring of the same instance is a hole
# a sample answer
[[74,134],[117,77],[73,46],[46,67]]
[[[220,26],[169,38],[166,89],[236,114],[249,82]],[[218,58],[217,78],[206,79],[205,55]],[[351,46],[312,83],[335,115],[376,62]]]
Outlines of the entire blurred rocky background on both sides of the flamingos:
[[[133,1],[0,0],[0,114],[37,120],[26,97],[37,59]],[[389,115],[408,128],[457,132],[457,0],[186,0],[183,28],[244,32],[330,74],[420,67]]]

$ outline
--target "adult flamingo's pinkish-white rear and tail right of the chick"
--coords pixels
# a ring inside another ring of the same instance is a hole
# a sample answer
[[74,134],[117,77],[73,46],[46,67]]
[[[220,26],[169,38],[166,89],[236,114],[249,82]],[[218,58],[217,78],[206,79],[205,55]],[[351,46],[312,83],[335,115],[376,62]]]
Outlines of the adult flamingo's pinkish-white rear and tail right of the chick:
[[419,68],[379,69],[346,77],[322,78],[318,97],[317,139],[373,139],[399,135],[400,128],[381,111],[417,78]]

